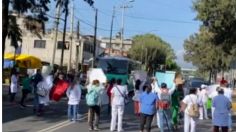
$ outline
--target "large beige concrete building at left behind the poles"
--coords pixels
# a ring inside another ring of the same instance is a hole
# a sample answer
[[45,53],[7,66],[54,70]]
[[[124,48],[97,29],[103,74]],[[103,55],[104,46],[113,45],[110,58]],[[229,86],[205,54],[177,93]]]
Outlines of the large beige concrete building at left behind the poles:
[[[40,58],[43,62],[50,63],[53,54],[54,45],[54,31],[48,31],[41,37],[26,30],[23,24],[23,18],[18,18],[18,24],[22,29],[22,48],[21,53],[29,54]],[[62,49],[62,32],[58,32],[55,64],[60,64],[61,49]],[[94,50],[94,38],[91,35],[82,35],[79,38],[73,35],[72,46],[70,47],[70,34],[66,34],[66,43],[64,48],[64,60],[63,65],[67,66],[69,62],[69,49],[72,49],[71,67],[75,68],[79,64],[88,64],[93,57]],[[5,53],[14,53],[15,49],[11,46],[11,41],[6,40]],[[100,47],[100,41],[97,40],[96,56],[104,52],[104,48]],[[79,63],[79,64],[78,64]]]

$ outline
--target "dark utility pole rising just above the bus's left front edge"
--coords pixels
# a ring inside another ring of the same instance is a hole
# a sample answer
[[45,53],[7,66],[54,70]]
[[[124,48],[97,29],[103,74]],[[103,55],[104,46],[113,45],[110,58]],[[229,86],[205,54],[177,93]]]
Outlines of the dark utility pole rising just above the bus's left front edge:
[[94,26],[94,47],[93,47],[93,68],[95,67],[96,60],[96,46],[97,46],[97,21],[98,21],[98,9],[95,9],[95,26]]

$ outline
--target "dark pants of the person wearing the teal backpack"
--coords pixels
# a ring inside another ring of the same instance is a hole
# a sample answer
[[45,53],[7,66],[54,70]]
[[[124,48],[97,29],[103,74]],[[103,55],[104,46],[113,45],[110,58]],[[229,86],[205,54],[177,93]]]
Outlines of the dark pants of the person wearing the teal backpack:
[[[94,119],[95,117],[95,119]],[[93,128],[93,126],[98,128],[98,123],[99,123],[99,118],[100,118],[100,107],[98,105],[95,106],[89,106],[89,126]],[[94,121],[94,125],[93,125]]]

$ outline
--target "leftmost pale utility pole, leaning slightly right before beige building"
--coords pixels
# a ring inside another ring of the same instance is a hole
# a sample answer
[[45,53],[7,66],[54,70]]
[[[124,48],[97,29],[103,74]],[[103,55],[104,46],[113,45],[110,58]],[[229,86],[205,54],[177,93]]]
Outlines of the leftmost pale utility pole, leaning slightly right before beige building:
[[55,19],[55,36],[54,36],[54,45],[53,45],[53,51],[52,51],[52,59],[51,59],[51,67],[54,68],[55,63],[55,54],[56,54],[56,45],[57,45],[57,34],[58,34],[58,25],[59,25],[59,18],[60,18],[60,10],[61,5],[59,4],[57,6],[56,10],[56,19]]

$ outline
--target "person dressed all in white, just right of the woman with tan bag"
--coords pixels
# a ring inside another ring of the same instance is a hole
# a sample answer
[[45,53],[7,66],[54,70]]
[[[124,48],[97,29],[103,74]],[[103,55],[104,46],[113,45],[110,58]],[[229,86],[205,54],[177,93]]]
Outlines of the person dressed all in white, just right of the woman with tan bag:
[[203,120],[203,115],[205,117],[205,119],[208,119],[207,116],[207,107],[206,107],[206,103],[208,100],[208,95],[207,95],[207,91],[206,91],[206,85],[201,85],[200,90],[198,91],[198,103],[199,103],[199,119]]

